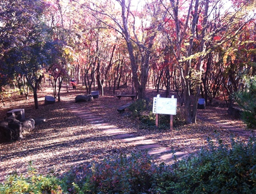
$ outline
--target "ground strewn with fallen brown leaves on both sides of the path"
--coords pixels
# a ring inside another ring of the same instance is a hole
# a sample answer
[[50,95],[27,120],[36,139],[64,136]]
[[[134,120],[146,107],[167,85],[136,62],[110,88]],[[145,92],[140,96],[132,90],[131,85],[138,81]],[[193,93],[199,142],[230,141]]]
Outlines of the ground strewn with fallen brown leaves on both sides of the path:
[[[118,90],[117,93],[123,91],[126,89]],[[39,173],[61,174],[69,171],[71,166],[99,162],[108,156],[137,151],[134,146],[105,134],[102,130],[88,124],[86,120],[71,113],[68,105],[75,104],[75,96],[84,93],[81,87],[76,90],[70,89],[70,92],[63,88],[61,101],[45,106],[44,96],[52,95],[52,90],[44,88],[38,91],[40,105],[38,110],[34,109],[33,96],[25,100],[22,96],[13,95],[5,102],[5,106],[0,111],[2,119],[8,110],[24,108],[26,117],[46,118],[46,122],[36,126],[35,130],[22,140],[0,143],[0,181],[12,172],[26,173],[31,161]],[[148,98],[153,99],[157,93],[155,90],[148,89],[147,95]],[[241,120],[228,116],[226,108],[223,108],[220,103],[207,107],[205,110],[199,110],[198,114],[204,118],[199,119],[197,124],[180,125],[170,131],[169,129],[148,130],[141,127],[138,120],[127,114],[120,114],[116,110],[128,102],[131,102],[130,98],[118,100],[112,91],[105,89],[104,96],[89,103],[79,103],[79,106],[85,111],[90,110],[99,115],[107,123],[127,132],[136,133],[138,136],[153,139],[158,144],[177,152],[193,153],[207,145],[208,137],[216,140],[219,136],[224,142],[229,142],[230,136],[241,141],[246,141],[248,138],[243,133],[234,133],[227,129],[228,126],[236,126],[245,131],[246,127]],[[180,115],[182,116],[182,111]],[[222,127],[217,126],[216,122],[221,122]]]

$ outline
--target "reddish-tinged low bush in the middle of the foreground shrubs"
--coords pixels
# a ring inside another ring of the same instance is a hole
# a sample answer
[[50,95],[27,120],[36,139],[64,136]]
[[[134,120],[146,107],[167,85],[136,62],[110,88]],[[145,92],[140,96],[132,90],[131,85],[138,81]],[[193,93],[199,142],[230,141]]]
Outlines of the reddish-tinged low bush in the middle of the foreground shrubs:
[[72,192],[81,193],[143,193],[152,186],[156,164],[146,153],[108,158],[92,166],[80,166],[66,175]]

